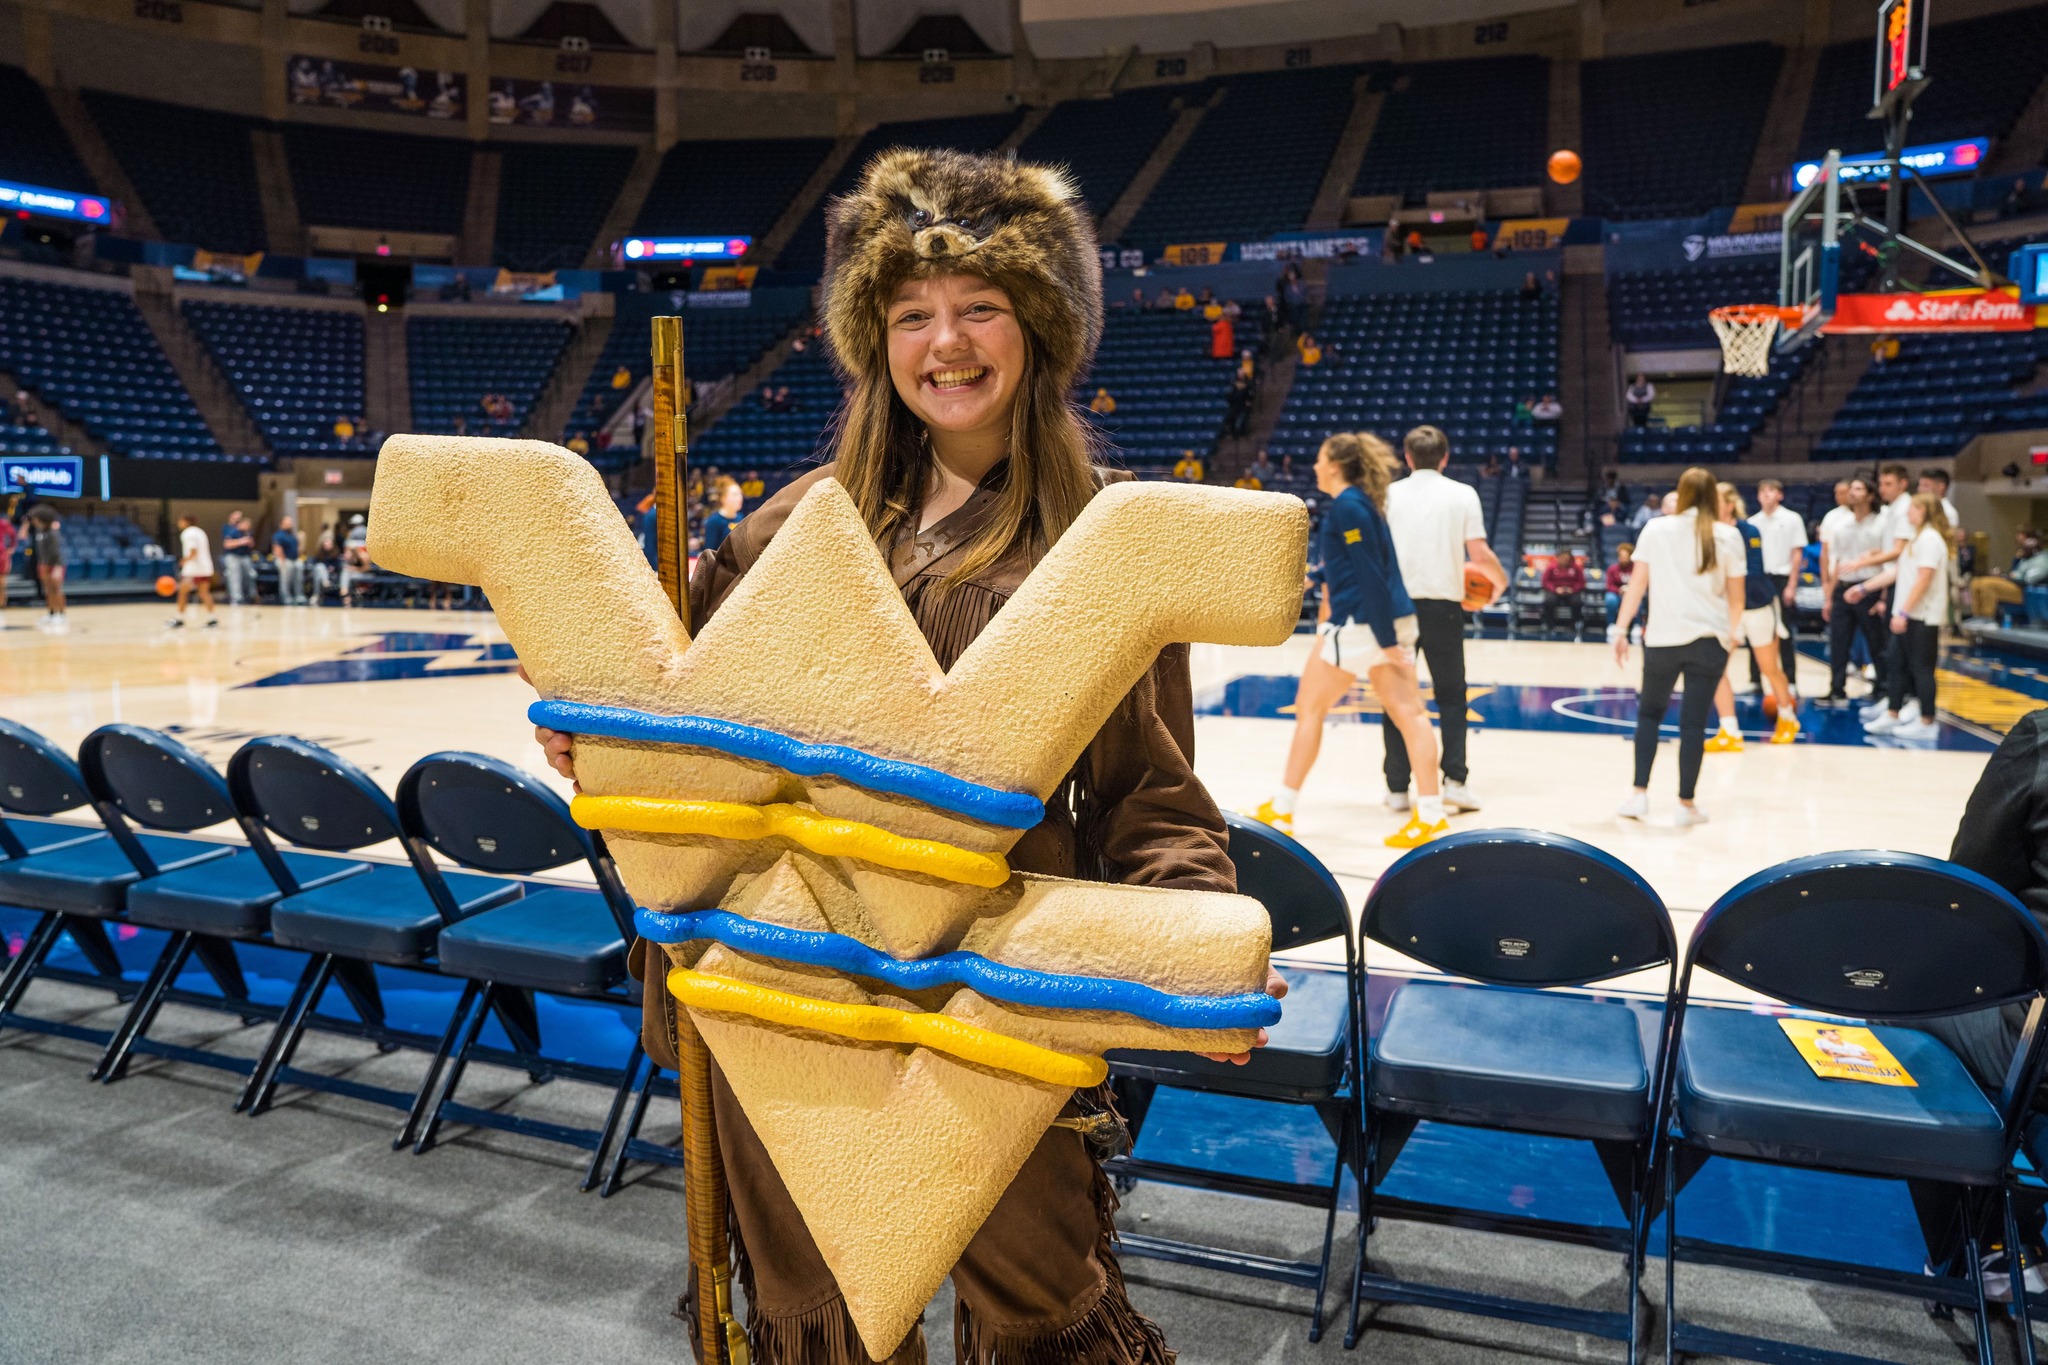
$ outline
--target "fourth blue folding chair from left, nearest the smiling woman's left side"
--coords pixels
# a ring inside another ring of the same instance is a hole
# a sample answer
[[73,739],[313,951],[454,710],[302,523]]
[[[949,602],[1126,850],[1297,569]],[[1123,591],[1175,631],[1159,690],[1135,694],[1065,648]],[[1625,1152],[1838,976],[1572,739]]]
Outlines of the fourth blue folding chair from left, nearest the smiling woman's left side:
[[[397,812],[414,866],[430,888],[446,880],[430,851],[465,868],[510,876],[532,876],[582,860],[598,884],[596,890],[528,890],[510,905],[440,931],[440,970],[463,976],[467,984],[449,1044],[434,1054],[420,1101],[395,1146],[410,1142],[414,1152],[426,1152],[444,1119],[563,1142],[590,1150],[584,1189],[592,1189],[643,1056],[639,982],[627,976],[633,898],[618,882],[610,853],[569,819],[561,796],[530,774],[481,753],[430,753],[414,763],[399,778]],[[633,1050],[625,1066],[545,1056],[532,1003],[537,990],[635,1011]],[[477,1046],[489,1013],[506,1023],[510,1052]],[[457,1103],[455,1093],[471,1058],[518,1066],[535,1081],[573,1076],[614,1087],[604,1126],[571,1128]]]

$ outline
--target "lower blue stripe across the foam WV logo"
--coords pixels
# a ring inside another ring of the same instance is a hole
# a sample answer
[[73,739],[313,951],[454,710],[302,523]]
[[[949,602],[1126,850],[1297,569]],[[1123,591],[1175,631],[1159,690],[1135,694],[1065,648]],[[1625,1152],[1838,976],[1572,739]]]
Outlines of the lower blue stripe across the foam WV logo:
[[688,911],[664,915],[639,911],[633,927],[653,943],[715,939],[727,948],[821,966],[848,976],[885,980],[901,990],[930,986],[973,986],[993,1001],[1038,1009],[1108,1009],[1137,1015],[1169,1029],[1260,1029],[1280,1023],[1280,1001],[1266,993],[1169,995],[1135,980],[1104,976],[1059,976],[989,962],[981,954],[950,952],[909,962],[877,952],[844,933],[811,933],[729,911]]

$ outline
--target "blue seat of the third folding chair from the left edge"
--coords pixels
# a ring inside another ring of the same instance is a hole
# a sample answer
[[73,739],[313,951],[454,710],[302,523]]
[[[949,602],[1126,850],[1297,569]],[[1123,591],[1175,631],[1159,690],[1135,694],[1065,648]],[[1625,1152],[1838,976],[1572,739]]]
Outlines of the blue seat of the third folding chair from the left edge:
[[[518,882],[473,872],[442,872],[463,915],[520,894]],[[369,872],[330,882],[270,907],[270,937],[285,948],[389,966],[418,966],[434,956],[440,913],[410,866],[369,864]]]

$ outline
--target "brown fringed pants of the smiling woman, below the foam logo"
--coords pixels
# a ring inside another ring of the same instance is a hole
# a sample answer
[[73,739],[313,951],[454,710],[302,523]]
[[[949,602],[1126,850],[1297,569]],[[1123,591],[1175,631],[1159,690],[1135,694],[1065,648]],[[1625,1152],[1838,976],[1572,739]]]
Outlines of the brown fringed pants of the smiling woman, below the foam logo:
[[[719,1148],[739,1232],[748,1336],[760,1365],[872,1365],[803,1216],[725,1074],[711,1068]],[[1071,1109],[1071,1105],[1069,1105]],[[961,1365],[1171,1365],[1124,1295],[1116,1193],[1081,1134],[1049,1128],[952,1269]],[[922,1365],[924,1330],[887,1365]]]

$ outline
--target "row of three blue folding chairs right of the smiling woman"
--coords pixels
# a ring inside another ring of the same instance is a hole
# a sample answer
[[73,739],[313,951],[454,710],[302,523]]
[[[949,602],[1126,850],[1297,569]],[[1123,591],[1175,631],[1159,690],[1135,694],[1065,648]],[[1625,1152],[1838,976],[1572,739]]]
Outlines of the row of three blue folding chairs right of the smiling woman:
[[[1126,1254],[1311,1289],[1315,1340],[1350,1177],[1360,1207],[1346,1347],[1358,1342],[1366,1306],[1411,1304],[1618,1340],[1632,1363],[1645,1336],[1645,1259],[1661,1220],[1667,1361],[1675,1353],[1804,1365],[1870,1359],[1690,1322],[1677,1279],[1683,1261],[1896,1293],[1935,1316],[1960,1308],[1974,1318],[1980,1365],[1993,1365],[1982,1257],[1999,1242],[2009,1248],[2019,1355],[2034,1363],[2028,1316],[2048,1302],[2034,1295],[2030,1304],[2023,1291],[2015,1197],[2040,1199],[2036,1173],[2048,1169],[2048,1117],[2030,1111],[2048,1052],[2040,1027],[2048,937],[2007,890],[1913,853],[1798,857],[1720,896],[1679,954],[1665,905],[1616,857],[1563,835],[1487,829],[1401,857],[1374,884],[1354,935],[1346,896],[1313,853],[1264,825],[1227,819],[1239,888],[1272,913],[1274,950],[1341,939],[1343,966],[1284,968],[1286,1013],[1245,1066],[1112,1054],[1118,1107],[1141,1134],[1161,1085],[1311,1105],[1337,1146],[1335,1171],[1329,1181],[1298,1183],[1141,1154],[1110,1164],[1124,1179],[1321,1207],[1323,1248],[1315,1261],[1286,1261],[1126,1234]],[[1376,1025],[1366,1009],[1364,939],[1440,972],[1401,980]],[[1640,988],[1645,972],[1659,980],[1655,993]],[[1696,972],[1774,1005],[1694,1001]],[[1612,984],[1628,976],[1636,976],[1630,988]],[[1974,1076],[1923,1029],[2011,1007],[2023,1023],[2001,1076]],[[1790,1011],[1868,1025],[1911,1085],[1821,1078],[1780,1027]],[[1421,1124],[1589,1144],[1620,1226],[1386,1193]],[[1831,1261],[1702,1238],[1683,1230],[1679,1205],[1710,1160],[1907,1181],[1923,1212],[1952,1209],[1952,1236],[1931,1250],[1927,1273],[1862,1265],[1853,1246]],[[1595,1310],[1401,1277],[1374,1254],[1389,1222],[1618,1254],[1626,1306]]]

